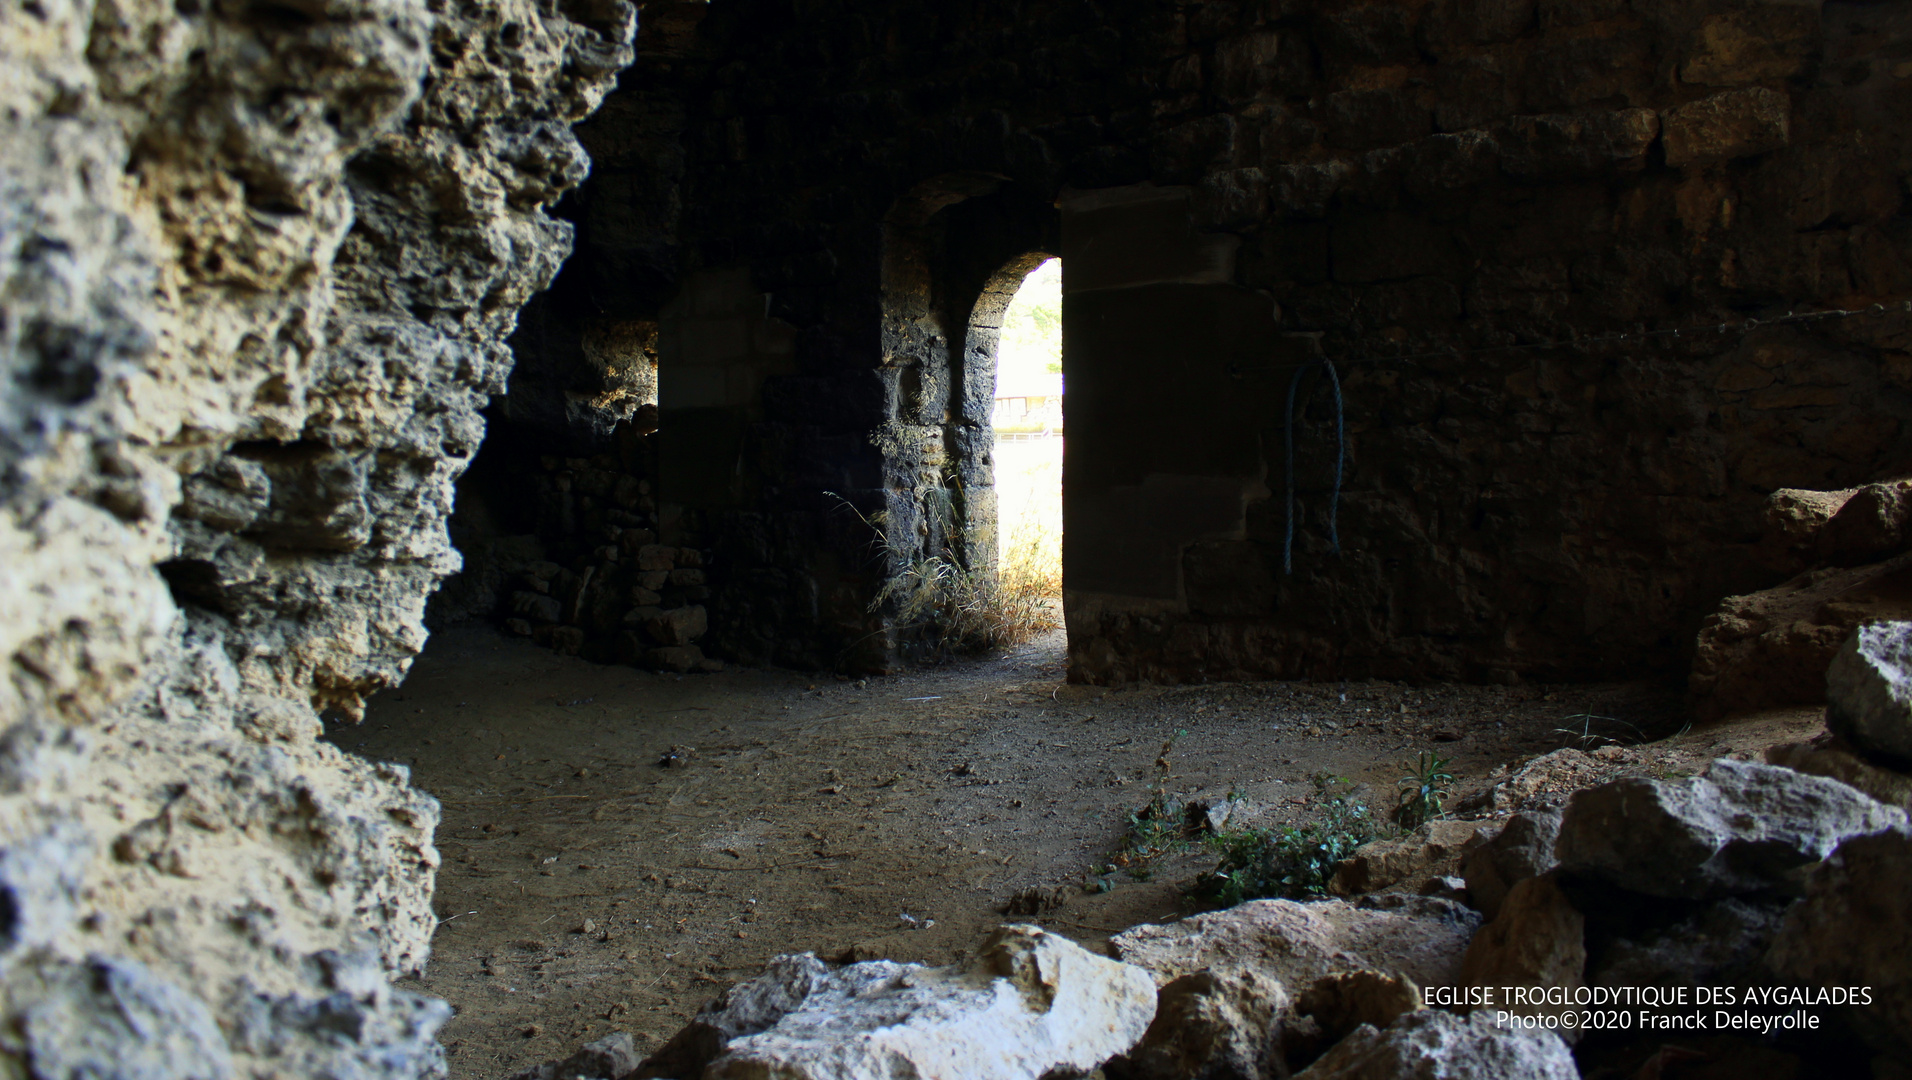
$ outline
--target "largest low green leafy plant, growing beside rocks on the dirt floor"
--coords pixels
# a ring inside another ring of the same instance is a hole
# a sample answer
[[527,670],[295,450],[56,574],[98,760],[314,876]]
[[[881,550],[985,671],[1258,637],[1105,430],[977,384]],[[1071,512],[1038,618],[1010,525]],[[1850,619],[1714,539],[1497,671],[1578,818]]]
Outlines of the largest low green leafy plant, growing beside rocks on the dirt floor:
[[1346,788],[1344,778],[1319,774],[1319,820],[1270,830],[1228,830],[1210,839],[1222,858],[1212,874],[1195,883],[1191,895],[1203,902],[1235,906],[1264,896],[1308,898],[1327,893],[1335,866],[1380,835],[1375,814]]

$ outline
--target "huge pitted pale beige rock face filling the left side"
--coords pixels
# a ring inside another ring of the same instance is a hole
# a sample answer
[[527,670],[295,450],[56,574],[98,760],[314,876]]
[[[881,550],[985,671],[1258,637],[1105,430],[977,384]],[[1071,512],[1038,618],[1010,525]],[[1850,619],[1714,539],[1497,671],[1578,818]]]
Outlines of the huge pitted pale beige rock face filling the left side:
[[317,742],[451,482],[633,10],[0,10],[0,1070],[415,1076],[436,803]]

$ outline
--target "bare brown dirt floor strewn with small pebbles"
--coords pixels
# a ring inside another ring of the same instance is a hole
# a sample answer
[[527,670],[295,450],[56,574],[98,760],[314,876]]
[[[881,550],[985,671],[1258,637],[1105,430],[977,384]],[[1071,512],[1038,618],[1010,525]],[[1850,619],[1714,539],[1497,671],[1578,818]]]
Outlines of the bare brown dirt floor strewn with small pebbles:
[[[1419,751],[1457,797],[1564,745],[1616,772],[1688,774],[1811,736],[1818,711],[1683,730],[1665,686],[1063,682],[1061,633],[1000,658],[839,680],[600,667],[489,629],[432,637],[344,749],[444,801],[432,965],[451,1074],[497,1080],[629,1030],[656,1048],[782,952],[946,963],[1025,887],[1050,929],[1107,935],[1193,912],[1203,849],[1096,874],[1122,849],[1176,732],[1166,788],[1302,820],[1314,776],[1390,807]],[[1107,887],[1103,885],[1107,883]],[[1105,889],[1105,891],[1103,891]]]

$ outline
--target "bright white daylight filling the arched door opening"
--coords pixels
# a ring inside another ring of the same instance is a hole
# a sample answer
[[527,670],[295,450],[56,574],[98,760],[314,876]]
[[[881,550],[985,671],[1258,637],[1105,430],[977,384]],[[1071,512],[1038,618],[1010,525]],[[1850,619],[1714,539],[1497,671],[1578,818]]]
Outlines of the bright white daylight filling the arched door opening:
[[1063,594],[1063,262],[1023,279],[996,348],[996,543],[1006,585]]

